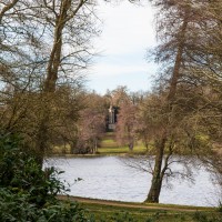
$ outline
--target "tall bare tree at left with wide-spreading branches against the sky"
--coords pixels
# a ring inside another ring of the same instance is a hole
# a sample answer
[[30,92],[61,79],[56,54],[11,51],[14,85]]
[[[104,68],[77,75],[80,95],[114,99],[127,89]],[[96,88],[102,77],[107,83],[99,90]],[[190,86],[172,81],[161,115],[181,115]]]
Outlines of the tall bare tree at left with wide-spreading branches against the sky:
[[[2,94],[11,93],[10,98],[17,98],[13,101],[19,102],[22,97],[29,98],[24,100],[29,102],[36,98],[33,101],[38,103],[39,118],[38,125],[32,124],[32,144],[40,152],[41,162],[50,147],[50,133],[57,128],[57,124],[52,124],[56,112],[64,113],[64,107],[59,101],[61,98],[69,99],[67,92],[63,97],[61,92],[64,90],[59,89],[63,84],[79,89],[83,77],[81,70],[88,67],[92,57],[89,39],[98,33],[93,26],[94,3],[84,0],[19,0],[7,7],[8,3],[0,3],[3,12],[0,61],[2,69],[6,67],[8,70],[1,72],[4,82]],[[3,98],[9,99],[7,95]],[[12,113],[21,113],[18,109],[21,105],[11,104],[16,108],[12,108]],[[23,104],[21,119],[28,117],[26,113],[30,113],[32,107],[28,102]],[[12,121],[9,122],[12,125]]]

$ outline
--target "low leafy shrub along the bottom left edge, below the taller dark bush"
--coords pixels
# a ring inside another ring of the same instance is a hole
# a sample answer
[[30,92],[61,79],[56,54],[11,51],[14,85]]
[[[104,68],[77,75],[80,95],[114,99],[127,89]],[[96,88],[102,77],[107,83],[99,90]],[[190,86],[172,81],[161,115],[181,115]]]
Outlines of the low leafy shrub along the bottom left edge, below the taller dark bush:
[[87,222],[84,210],[75,202],[47,202],[42,208],[29,202],[29,194],[0,189],[1,222]]

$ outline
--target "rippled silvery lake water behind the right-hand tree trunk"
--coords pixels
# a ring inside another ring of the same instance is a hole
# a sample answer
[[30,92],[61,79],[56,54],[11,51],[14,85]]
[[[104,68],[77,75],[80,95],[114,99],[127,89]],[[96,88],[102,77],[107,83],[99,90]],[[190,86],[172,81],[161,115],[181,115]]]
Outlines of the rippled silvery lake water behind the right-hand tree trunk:
[[[70,184],[75,196],[104,200],[143,202],[151,183],[151,175],[124,164],[124,158],[53,158],[46,165],[65,171],[61,180]],[[174,167],[176,168],[176,167]],[[204,168],[194,169],[195,183],[173,179],[172,188],[163,183],[161,203],[213,206],[218,203],[219,190]],[[81,181],[74,182],[78,178]]]

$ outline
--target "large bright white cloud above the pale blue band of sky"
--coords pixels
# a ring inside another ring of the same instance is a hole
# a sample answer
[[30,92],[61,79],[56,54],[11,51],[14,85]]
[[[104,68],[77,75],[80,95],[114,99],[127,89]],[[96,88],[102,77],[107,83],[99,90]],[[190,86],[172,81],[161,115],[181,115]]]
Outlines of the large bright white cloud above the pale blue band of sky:
[[98,46],[107,54],[129,53],[155,43],[151,7],[138,7],[129,1],[115,7],[101,3],[99,14],[103,31]]

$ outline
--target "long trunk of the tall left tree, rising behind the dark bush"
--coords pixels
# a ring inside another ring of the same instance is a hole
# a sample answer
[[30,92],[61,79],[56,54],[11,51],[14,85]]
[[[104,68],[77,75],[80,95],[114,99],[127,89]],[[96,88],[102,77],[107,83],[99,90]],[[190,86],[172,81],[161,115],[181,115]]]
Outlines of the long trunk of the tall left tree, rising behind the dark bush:
[[[70,7],[70,0],[61,2],[61,13],[56,19],[54,36],[53,36],[53,46],[51,49],[48,67],[47,67],[47,78],[44,80],[43,87],[43,98],[46,98],[47,109],[44,110],[43,117],[40,120],[40,128],[37,135],[37,150],[40,153],[39,162],[43,163],[43,157],[46,150],[48,149],[49,142],[49,117],[50,117],[50,99],[54,99],[56,85],[58,81],[58,72],[61,62],[61,52],[62,52],[62,31],[64,29],[67,12]],[[41,160],[42,158],[42,160]]]

